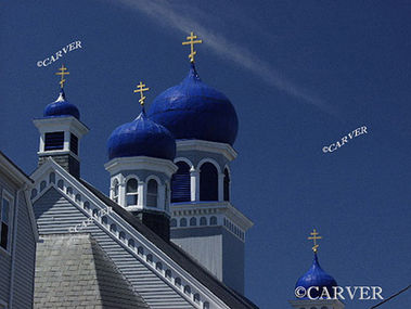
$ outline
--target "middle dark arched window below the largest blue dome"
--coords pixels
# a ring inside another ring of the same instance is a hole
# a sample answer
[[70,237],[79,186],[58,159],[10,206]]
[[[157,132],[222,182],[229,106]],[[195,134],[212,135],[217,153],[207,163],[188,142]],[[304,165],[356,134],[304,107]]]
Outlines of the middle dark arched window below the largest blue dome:
[[209,162],[200,168],[200,201],[218,201],[218,172]]

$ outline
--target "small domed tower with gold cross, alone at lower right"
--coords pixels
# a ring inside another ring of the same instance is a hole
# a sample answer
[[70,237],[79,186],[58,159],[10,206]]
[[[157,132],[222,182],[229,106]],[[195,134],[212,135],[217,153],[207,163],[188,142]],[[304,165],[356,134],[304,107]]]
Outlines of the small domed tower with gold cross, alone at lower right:
[[318,261],[317,240],[321,240],[316,229],[308,240],[313,241],[314,258],[310,269],[301,275],[295,284],[295,300],[290,300],[296,309],[344,309],[344,304],[336,297],[335,288],[338,286],[334,278],[327,274]]

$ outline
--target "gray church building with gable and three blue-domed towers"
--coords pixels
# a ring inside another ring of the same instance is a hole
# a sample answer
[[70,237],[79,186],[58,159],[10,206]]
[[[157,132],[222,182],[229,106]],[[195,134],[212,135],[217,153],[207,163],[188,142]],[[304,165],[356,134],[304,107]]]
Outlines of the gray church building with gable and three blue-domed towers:
[[[191,34],[189,75],[107,140],[110,196],[80,177],[89,128],[64,90],[34,119],[38,168],[30,198],[40,242],[35,308],[257,308],[244,297],[253,222],[230,202],[239,120],[204,83]],[[87,168],[87,167],[85,167]],[[108,182],[108,181],[107,181]]]

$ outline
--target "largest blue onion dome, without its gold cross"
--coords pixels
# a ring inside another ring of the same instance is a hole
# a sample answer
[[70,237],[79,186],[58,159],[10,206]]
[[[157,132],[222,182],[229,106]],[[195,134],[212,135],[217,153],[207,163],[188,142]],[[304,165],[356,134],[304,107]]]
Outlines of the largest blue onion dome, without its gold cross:
[[181,83],[167,89],[153,101],[147,115],[169,129],[176,139],[232,145],[239,130],[239,119],[230,100],[205,85],[194,64]]

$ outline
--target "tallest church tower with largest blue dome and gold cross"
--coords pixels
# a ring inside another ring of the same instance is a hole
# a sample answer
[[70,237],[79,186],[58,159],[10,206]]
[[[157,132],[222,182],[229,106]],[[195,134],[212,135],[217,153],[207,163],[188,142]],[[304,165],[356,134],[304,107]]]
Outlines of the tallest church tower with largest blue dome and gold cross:
[[194,65],[191,33],[189,75],[160,93],[150,119],[176,138],[177,172],[171,179],[171,241],[219,280],[244,293],[245,233],[253,226],[231,204],[230,163],[239,120],[230,100],[204,83]]

